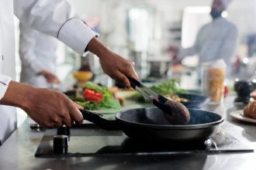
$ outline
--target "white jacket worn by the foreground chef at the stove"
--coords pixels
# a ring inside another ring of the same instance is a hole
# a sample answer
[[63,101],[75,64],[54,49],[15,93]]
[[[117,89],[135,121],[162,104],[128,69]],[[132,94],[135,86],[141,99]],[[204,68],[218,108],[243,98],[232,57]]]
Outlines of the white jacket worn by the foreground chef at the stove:
[[[57,37],[80,54],[96,36],[65,0],[0,0],[0,99],[16,75],[14,12],[24,25]],[[0,105],[0,141],[15,129],[15,107]]]

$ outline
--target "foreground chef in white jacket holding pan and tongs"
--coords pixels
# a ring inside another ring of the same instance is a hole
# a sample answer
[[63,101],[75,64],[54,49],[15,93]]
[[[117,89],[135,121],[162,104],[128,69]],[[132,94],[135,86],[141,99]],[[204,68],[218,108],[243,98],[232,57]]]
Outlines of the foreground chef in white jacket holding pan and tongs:
[[[83,117],[78,107],[63,93],[32,87],[15,81],[15,39],[13,13],[25,26],[54,36],[83,55],[99,57],[102,70],[130,87],[126,76],[137,78],[133,63],[110,51],[65,0],[0,0],[0,141],[16,129],[16,107],[45,127],[70,127]],[[109,62],[111,61],[111,62]],[[5,106],[7,105],[7,106]]]

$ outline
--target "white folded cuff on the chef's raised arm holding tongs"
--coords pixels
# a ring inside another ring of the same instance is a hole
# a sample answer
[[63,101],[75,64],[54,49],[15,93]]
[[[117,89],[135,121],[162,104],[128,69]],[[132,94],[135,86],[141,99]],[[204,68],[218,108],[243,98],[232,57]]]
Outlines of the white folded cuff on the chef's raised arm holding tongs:
[[88,42],[93,37],[99,36],[96,32],[82,22],[79,18],[68,19],[67,22],[61,26],[57,38],[74,49],[75,52],[83,55]]

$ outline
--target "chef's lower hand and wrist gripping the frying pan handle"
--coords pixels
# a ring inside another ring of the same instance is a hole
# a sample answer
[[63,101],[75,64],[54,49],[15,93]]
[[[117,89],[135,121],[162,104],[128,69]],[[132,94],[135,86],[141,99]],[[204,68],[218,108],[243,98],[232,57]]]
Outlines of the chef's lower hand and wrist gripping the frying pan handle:
[[47,128],[81,124],[83,116],[72,100],[57,90],[32,87],[11,81],[0,104],[20,107],[36,123]]

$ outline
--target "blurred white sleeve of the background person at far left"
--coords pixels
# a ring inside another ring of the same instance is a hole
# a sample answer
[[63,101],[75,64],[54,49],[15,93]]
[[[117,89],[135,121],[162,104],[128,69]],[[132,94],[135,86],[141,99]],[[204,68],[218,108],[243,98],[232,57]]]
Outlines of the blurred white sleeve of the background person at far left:
[[19,25],[19,57],[22,64],[29,66],[33,73],[40,73],[43,69],[43,63],[39,59],[36,59],[36,53],[34,52],[34,46],[36,46],[36,38],[40,32],[29,29],[22,24]]

